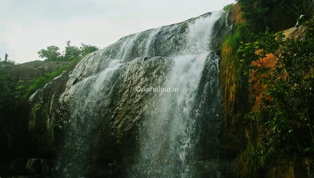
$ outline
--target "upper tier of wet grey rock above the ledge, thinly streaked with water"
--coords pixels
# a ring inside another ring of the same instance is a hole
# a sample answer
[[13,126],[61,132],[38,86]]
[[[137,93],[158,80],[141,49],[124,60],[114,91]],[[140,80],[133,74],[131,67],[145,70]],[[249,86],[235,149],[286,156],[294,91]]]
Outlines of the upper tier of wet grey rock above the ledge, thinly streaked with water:
[[[173,57],[183,54],[185,49],[191,46],[194,46],[197,50],[198,44],[202,42],[189,40],[188,33],[191,30],[190,28],[198,23],[198,19],[206,19],[211,14],[205,13],[181,23],[125,36],[106,48],[84,57],[83,60],[78,62],[71,75],[77,79],[77,82],[95,72],[102,71],[112,59],[119,59],[123,63],[130,62],[137,57]],[[211,51],[220,50],[220,42],[231,30],[230,23],[228,13],[223,13],[219,20],[215,22],[214,30],[211,32],[215,40],[209,41],[207,48],[211,48]],[[207,40],[208,36],[206,35],[208,34],[203,34],[203,40]]]

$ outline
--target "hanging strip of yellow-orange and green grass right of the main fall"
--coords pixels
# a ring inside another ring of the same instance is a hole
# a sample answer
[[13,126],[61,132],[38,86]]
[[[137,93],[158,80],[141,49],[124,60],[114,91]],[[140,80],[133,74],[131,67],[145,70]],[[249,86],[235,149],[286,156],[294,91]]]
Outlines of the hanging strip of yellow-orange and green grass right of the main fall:
[[235,31],[226,36],[221,46],[221,82],[223,106],[225,111],[226,129],[234,131],[237,123],[241,122],[243,114],[243,81],[246,80],[240,56],[237,53],[241,41],[252,41],[252,27],[239,24]]

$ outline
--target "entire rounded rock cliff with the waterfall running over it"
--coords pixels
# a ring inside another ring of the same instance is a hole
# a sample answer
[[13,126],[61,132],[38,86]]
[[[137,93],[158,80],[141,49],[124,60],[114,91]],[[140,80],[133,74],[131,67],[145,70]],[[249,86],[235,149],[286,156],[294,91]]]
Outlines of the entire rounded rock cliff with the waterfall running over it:
[[[173,164],[176,169],[185,171],[188,165],[177,159],[189,159],[185,154],[192,149],[189,145],[194,141],[191,140],[198,137],[202,138],[198,144],[195,141],[193,149],[206,150],[206,154],[198,154],[195,159],[217,158],[221,146],[216,137],[221,124],[219,118],[223,115],[217,50],[230,29],[225,13],[215,13],[213,17],[212,13],[206,13],[181,23],[128,35],[90,53],[30,96],[27,106],[30,112],[25,118],[33,152],[57,159],[56,177],[97,177],[102,174],[98,171],[112,172],[106,166],[116,162],[121,169],[126,167],[123,164],[133,162],[142,162],[143,167],[150,164],[147,156],[159,152],[159,160],[173,154],[168,159],[177,162]],[[165,84],[178,84],[183,92],[166,95],[135,90],[138,86],[175,87]],[[163,122],[168,117],[174,121]],[[192,117],[201,119],[194,121]],[[143,118],[151,121],[145,123]],[[186,128],[189,124],[199,129]],[[151,132],[140,133],[142,126]],[[165,135],[169,138],[162,141]],[[145,137],[152,138],[153,142]],[[201,143],[206,144],[198,148]],[[167,148],[162,153],[158,148],[151,150],[151,145]],[[214,150],[207,151],[209,147]],[[180,152],[175,153],[176,148]],[[143,149],[146,149],[145,155],[140,158],[137,154]],[[37,162],[33,160],[27,165],[40,165]],[[29,172],[44,170],[39,169],[41,166],[35,168],[27,169]],[[150,169],[155,171],[153,167]],[[171,175],[178,174],[167,164],[163,169]]]

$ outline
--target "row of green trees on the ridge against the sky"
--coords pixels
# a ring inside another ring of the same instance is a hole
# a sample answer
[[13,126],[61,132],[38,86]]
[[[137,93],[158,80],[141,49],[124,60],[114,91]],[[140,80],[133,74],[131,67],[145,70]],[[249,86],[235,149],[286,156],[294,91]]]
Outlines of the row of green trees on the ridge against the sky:
[[82,46],[71,46],[71,41],[67,41],[65,51],[61,54],[60,48],[57,46],[48,46],[47,49],[38,51],[39,57],[45,58],[45,61],[73,61],[78,60],[87,54],[99,50],[97,46],[86,45],[81,43]]

